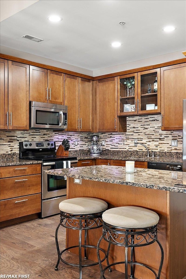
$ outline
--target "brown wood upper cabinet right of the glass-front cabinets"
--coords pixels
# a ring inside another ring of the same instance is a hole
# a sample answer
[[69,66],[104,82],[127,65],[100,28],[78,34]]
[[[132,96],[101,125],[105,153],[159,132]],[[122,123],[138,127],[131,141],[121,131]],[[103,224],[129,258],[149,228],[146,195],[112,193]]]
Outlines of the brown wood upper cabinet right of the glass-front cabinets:
[[186,63],[161,68],[162,130],[183,129]]

